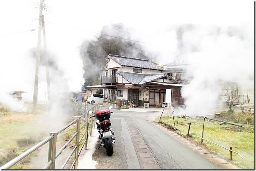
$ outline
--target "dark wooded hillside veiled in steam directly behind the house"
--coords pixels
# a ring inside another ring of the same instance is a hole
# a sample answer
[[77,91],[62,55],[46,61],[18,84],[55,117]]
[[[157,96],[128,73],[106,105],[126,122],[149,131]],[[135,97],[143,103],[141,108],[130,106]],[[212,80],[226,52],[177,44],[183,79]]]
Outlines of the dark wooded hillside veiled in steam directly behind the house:
[[103,26],[101,35],[96,40],[85,40],[80,47],[83,60],[84,85],[97,85],[100,83],[101,67],[106,63],[105,58],[109,54],[128,56],[131,58],[154,58],[147,57],[144,48],[130,39],[131,33],[126,31],[122,24]]

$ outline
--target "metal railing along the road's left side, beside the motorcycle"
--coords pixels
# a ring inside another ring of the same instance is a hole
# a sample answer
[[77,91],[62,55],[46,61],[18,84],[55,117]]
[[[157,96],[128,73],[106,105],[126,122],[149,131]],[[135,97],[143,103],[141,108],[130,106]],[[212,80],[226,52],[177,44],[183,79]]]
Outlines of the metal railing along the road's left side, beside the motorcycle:
[[[49,142],[49,148],[48,148],[48,161],[47,164],[42,169],[55,169],[55,160],[56,158],[61,154],[61,152],[66,149],[66,147],[70,144],[70,142],[75,138],[75,147],[70,153],[70,155],[67,157],[63,165],[61,166],[61,169],[64,169],[67,163],[70,161],[73,154],[74,155],[74,161],[70,167],[70,169],[77,169],[78,166],[78,157],[81,154],[81,151],[83,149],[83,146],[85,149],[87,149],[88,145],[88,135],[92,136],[92,129],[89,132],[89,111],[92,110],[92,112],[95,112],[97,108],[100,108],[100,104],[95,105],[93,108],[85,111],[81,116],[75,116],[77,117],[74,121],[67,124],[65,127],[61,128],[57,132],[50,132],[50,136],[45,138],[45,140],[37,143],[35,146],[31,147],[24,153],[20,154],[19,156],[15,157],[13,160],[9,161],[5,165],[0,167],[0,170],[2,169],[10,169],[17,163],[19,163],[21,160],[25,159],[25,157],[28,157],[29,154],[36,151],[43,145]],[[81,126],[81,118],[86,119],[85,123]],[[96,118],[91,118],[90,127],[95,128],[95,121]],[[71,125],[76,123],[76,132],[75,134],[70,138],[69,141],[56,153],[56,146],[57,146],[57,135],[69,128]],[[80,127],[81,126],[81,127]],[[83,129],[83,127],[86,126],[86,131],[83,133],[82,137],[79,138],[80,132]],[[79,145],[81,141],[83,140],[83,137],[86,135],[85,140],[81,146],[81,149],[79,150]]]

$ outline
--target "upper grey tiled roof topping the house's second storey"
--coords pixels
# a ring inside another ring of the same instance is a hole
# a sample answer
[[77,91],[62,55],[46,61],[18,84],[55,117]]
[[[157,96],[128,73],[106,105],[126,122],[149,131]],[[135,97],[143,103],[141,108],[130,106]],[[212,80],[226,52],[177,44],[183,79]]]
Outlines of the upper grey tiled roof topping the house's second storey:
[[136,68],[145,68],[145,69],[154,69],[154,70],[164,71],[164,69],[153,64],[147,59],[129,58],[125,56],[118,56],[118,55],[111,55],[111,54],[109,54],[106,58],[111,58],[121,66],[131,66]]

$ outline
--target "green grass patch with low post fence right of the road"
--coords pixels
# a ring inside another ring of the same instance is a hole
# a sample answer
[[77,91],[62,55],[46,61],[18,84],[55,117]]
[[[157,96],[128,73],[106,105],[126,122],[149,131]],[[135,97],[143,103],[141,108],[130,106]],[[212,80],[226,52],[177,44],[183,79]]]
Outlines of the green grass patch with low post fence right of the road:
[[[175,132],[183,137],[186,137],[189,122],[191,122],[189,133],[192,134],[192,138],[196,143],[201,142],[201,139],[197,136],[201,137],[202,135],[203,119],[175,117],[174,120],[175,127],[178,128]],[[159,119],[155,119],[155,121],[158,122]],[[174,126],[172,117],[162,116],[161,121]],[[238,154],[233,154],[231,162],[243,169],[254,169],[254,125],[244,124],[242,127],[230,124],[220,125],[215,121],[206,119],[203,138],[226,148],[232,147],[234,151],[244,158],[242,159]],[[230,152],[228,150],[208,141],[203,141],[203,145],[210,152],[225,158],[225,160],[230,160]]]

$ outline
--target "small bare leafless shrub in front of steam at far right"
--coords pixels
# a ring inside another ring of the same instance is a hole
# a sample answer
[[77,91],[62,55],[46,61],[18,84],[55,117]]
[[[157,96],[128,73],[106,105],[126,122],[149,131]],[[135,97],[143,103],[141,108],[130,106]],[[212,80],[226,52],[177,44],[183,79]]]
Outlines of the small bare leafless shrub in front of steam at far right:
[[237,84],[226,82],[223,86],[224,99],[227,102],[228,108],[231,109],[236,99],[239,98]]

